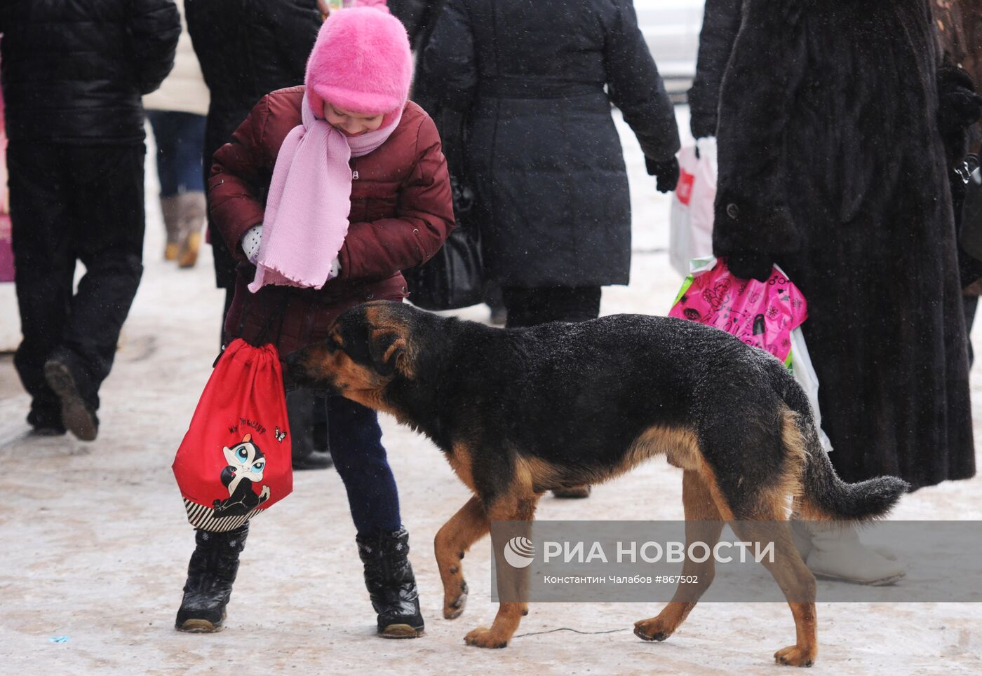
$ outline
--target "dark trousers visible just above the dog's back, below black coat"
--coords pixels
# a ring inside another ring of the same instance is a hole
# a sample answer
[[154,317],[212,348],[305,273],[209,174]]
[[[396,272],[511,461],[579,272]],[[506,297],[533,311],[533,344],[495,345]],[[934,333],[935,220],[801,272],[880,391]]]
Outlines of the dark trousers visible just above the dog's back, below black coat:
[[600,286],[503,286],[510,329],[545,322],[583,322],[600,314]]

